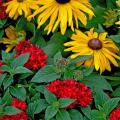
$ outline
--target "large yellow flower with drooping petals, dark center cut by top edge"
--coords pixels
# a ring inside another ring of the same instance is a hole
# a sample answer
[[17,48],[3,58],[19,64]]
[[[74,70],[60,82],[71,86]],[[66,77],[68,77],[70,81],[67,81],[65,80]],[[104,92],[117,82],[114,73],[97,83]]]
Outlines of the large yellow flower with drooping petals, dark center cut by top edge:
[[28,17],[31,20],[39,14],[37,23],[40,28],[48,19],[50,22],[45,27],[49,34],[54,32],[60,24],[61,33],[65,34],[67,25],[74,31],[74,21],[78,28],[78,21],[87,24],[86,14],[91,19],[94,16],[89,0],[40,0],[40,8]]

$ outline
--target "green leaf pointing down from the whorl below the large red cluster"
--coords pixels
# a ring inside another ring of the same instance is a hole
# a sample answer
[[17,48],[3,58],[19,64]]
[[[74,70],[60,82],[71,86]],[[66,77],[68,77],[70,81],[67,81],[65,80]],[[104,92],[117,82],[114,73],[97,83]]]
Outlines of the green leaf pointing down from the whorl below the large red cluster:
[[48,106],[45,111],[45,119],[50,120],[51,118],[53,118],[56,115],[57,112],[58,112],[58,109],[56,109],[52,106]]

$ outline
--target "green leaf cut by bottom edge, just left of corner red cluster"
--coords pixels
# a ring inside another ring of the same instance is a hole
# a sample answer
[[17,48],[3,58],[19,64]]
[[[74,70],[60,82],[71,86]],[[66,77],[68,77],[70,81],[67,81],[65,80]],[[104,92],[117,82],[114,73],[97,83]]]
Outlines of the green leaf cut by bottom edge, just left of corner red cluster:
[[107,120],[106,115],[98,110],[92,110],[91,120]]

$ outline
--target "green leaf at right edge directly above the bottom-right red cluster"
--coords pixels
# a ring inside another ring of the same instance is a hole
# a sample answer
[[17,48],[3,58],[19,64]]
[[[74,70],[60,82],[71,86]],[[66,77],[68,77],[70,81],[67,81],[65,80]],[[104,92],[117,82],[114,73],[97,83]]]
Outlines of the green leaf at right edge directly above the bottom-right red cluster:
[[103,105],[103,112],[106,115],[109,115],[110,112],[117,106],[119,101],[120,101],[120,98],[112,98],[106,101]]

